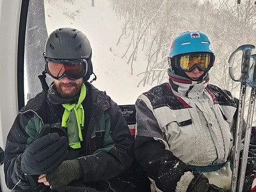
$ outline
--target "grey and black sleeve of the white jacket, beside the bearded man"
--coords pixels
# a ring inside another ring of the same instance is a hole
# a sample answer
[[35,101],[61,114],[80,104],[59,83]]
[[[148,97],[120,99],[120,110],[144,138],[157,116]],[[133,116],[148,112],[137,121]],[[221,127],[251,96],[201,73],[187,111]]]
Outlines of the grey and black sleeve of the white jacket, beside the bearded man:
[[[136,101],[137,134],[135,137],[135,158],[147,172],[147,176],[162,191],[175,191],[177,182],[189,168],[159,140],[164,140],[156,118],[144,101]],[[156,138],[156,139],[154,139]]]

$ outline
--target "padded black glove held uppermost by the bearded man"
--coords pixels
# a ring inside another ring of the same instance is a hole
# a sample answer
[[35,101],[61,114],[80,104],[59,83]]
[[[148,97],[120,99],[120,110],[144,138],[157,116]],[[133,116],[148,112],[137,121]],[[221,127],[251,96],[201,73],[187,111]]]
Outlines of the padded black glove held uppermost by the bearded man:
[[21,169],[27,175],[49,174],[61,165],[68,154],[65,136],[51,133],[35,140],[21,155]]

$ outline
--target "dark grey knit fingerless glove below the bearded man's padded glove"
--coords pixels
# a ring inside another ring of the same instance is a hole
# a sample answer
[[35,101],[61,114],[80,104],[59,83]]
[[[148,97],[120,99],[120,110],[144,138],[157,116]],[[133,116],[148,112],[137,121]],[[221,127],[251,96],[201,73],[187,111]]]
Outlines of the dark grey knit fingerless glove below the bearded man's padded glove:
[[82,177],[84,172],[78,159],[66,160],[52,173],[46,176],[52,189],[63,187]]

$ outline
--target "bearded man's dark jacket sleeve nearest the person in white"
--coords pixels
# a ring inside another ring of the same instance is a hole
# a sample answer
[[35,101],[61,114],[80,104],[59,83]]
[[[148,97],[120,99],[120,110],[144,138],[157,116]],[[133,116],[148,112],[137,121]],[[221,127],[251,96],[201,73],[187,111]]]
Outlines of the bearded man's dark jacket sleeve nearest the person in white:
[[134,139],[121,109],[111,101],[104,112],[105,133],[103,148],[92,155],[79,158],[84,170],[84,182],[100,182],[114,178],[133,163]]

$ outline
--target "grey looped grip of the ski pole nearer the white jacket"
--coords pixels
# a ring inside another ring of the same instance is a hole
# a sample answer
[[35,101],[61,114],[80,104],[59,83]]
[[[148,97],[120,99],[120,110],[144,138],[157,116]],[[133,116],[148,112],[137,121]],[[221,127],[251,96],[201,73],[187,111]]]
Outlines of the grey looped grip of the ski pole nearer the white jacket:
[[239,51],[243,52],[240,79],[235,79],[235,76],[233,73],[233,67],[229,67],[229,75],[233,81],[239,81],[239,82],[250,81],[250,60],[251,60],[252,49],[254,49],[254,48],[255,48],[255,46],[251,45],[251,44],[241,45],[229,57],[228,62],[231,63],[237,52],[239,52]]

